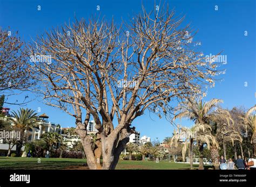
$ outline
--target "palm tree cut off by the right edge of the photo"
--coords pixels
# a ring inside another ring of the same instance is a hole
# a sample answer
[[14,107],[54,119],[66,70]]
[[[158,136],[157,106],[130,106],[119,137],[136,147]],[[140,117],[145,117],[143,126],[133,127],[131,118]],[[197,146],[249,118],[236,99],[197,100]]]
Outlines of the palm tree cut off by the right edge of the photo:
[[246,114],[245,117],[241,117],[244,120],[246,131],[252,132],[251,143],[253,145],[253,154],[256,156],[256,116],[252,114],[256,111],[256,105],[251,107]]

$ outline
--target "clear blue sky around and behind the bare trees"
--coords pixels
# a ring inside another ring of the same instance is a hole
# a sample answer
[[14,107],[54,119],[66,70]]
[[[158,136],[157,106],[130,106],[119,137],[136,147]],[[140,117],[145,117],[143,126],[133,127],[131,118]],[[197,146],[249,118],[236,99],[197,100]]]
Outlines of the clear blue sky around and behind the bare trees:
[[[146,9],[153,9],[154,2],[143,1]],[[164,2],[164,1],[162,1]],[[226,74],[222,77],[223,82],[217,82],[215,88],[208,90],[205,98],[221,98],[224,100],[223,107],[232,109],[233,106],[251,107],[255,104],[255,1],[185,1],[172,0],[170,9],[175,8],[177,15],[185,15],[185,23],[191,23],[198,33],[195,40],[201,41],[200,51],[205,55],[217,54],[223,51],[227,55]],[[105,16],[116,23],[122,18],[126,20],[133,13],[141,11],[142,1],[120,1],[120,0],[96,0],[96,1],[12,1],[0,0],[0,26],[11,31],[18,31],[21,38],[29,41],[36,35],[52,27],[62,25],[73,19],[88,18],[91,15]],[[41,11],[37,6],[41,6]],[[100,11],[96,6],[100,6]],[[215,5],[218,11],[214,10]],[[248,35],[245,36],[244,32]],[[247,82],[247,87],[245,87]],[[29,97],[33,96],[29,94]],[[22,100],[24,95],[14,96],[12,99]],[[9,106],[17,110],[18,106]],[[41,107],[41,112],[50,116],[50,121],[59,123],[63,127],[74,126],[75,120],[50,106],[46,106],[37,98],[29,103],[27,107],[36,110]],[[190,121],[183,120],[183,125],[191,126]],[[173,127],[164,118],[159,119],[148,113],[136,119],[133,123],[141,135],[150,136],[152,139],[163,140],[165,136],[171,136]]]

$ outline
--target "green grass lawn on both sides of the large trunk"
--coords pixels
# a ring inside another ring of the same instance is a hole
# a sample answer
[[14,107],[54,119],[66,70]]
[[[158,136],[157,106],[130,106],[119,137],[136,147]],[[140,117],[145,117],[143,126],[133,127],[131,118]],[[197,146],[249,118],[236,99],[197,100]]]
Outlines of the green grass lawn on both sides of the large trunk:
[[[0,169],[86,169],[82,164],[85,159],[55,159],[27,157],[0,157]],[[195,165],[194,168],[197,168]],[[189,169],[190,164],[160,161],[127,161],[120,160],[116,169]]]

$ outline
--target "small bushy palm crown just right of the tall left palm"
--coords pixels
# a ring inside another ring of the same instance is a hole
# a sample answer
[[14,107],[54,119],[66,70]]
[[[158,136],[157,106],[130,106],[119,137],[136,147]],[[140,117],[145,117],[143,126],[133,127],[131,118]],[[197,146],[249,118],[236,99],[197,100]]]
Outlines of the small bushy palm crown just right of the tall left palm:
[[47,143],[49,150],[51,150],[52,146],[58,145],[58,143],[62,144],[63,139],[62,135],[56,132],[46,132],[42,134],[41,138]]

